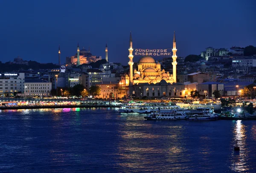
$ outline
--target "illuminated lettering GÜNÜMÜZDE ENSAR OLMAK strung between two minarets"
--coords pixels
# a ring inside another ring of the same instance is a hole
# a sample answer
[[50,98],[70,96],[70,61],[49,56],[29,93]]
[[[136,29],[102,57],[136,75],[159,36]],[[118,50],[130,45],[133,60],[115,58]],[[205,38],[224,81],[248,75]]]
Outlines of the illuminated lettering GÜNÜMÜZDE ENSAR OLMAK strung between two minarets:
[[[170,52],[171,50],[171,52]],[[135,49],[135,56],[172,56],[172,49]]]

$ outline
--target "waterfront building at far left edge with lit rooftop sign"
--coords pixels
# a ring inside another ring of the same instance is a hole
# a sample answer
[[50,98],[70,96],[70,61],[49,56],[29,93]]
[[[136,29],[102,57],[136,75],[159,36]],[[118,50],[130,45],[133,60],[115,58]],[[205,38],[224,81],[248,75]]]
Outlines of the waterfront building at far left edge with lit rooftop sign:
[[14,93],[24,93],[24,73],[0,74],[0,95],[13,96]]

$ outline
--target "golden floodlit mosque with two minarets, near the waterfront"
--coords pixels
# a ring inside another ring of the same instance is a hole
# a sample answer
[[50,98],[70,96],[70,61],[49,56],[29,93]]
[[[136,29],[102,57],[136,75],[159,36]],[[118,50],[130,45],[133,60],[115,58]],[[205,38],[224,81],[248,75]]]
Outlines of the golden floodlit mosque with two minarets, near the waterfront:
[[[133,48],[132,37],[130,33],[130,48],[129,50],[129,78],[121,83],[129,85],[130,96],[185,96],[185,85],[176,81],[176,38],[173,37],[172,48],[172,74],[161,69],[160,63],[156,63],[154,58],[149,57],[146,53],[145,57],[139,60],[137,69],[133,70]],[[129,79],[129,81],[128,81]]]

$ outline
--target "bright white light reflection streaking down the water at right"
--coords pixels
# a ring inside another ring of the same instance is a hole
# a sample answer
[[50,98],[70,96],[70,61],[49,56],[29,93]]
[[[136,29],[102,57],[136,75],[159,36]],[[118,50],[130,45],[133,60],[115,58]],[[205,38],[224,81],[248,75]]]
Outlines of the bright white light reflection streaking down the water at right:
[[[231,142],[231,150],[232,153],[230,155],[230,159],[232,160],[230,168],[236,172],[244,172],[249,171],[248,168],[248,148],[246,144],[246,126],[242,123],[241,120],[237,120],[235,122],[235,126],[233,127],[233,141]],[[238,145],[240,147],[240,151],[234,151],[235,142],[238,140]]]

